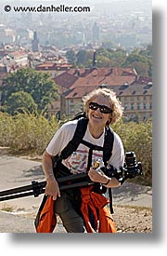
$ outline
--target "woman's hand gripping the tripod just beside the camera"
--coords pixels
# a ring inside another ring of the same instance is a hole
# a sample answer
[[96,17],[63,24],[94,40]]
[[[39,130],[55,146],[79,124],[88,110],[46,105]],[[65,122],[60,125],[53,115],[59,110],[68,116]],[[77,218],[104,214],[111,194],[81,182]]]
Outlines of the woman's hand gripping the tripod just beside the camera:
[[109,180],[109,177],[102,170],[96,170],[95,168],[89,169],[88,176],[92,182],[106,183]]

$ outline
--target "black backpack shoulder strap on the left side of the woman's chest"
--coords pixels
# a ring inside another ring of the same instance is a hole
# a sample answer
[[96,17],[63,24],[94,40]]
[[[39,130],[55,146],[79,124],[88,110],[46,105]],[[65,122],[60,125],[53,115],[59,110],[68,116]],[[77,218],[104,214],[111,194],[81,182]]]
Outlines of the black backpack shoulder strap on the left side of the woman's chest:
[[75,129],[73,138],[71,139],[71,141],[69,141],[67,146],[62,150],[61,155],[58,157],[59,160],[68,158],[72,154],[72,152],[76,151],[79,144],[83,140],[83,136],[85,134],[87,124],[88,124],[87,118],[82,117],[78,119],[77,127]]

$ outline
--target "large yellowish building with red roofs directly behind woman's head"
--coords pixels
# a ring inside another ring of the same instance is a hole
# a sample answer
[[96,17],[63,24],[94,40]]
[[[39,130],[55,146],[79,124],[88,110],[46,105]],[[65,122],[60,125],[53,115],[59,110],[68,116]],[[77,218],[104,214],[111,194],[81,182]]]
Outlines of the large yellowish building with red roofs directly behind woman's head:
[[82,111],[82,98],[95,88],[113,89],[124,107],[126,120],[152,116],[152,79],[136,74],[133,68],[71,69],[55,79],[60,92],[60,116]]

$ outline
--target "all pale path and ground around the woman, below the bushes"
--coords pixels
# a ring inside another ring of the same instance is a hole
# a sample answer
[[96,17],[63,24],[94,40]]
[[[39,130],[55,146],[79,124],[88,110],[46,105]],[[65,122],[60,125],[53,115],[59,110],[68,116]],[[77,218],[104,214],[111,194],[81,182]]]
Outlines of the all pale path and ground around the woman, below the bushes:
[[[0,155],[0,191],[44,181],[41,163],[14,156]],[[1,233],[35,233],[33,221],[43,195],[0,202]],[[114,222],[120,233],[152,232],[152,190],[124,182],[113,190]],[[3,209],[3,210],[2,210]],[[7,212],[9,210],[10,212]],[[58,220],[55,233],[65,230]]]

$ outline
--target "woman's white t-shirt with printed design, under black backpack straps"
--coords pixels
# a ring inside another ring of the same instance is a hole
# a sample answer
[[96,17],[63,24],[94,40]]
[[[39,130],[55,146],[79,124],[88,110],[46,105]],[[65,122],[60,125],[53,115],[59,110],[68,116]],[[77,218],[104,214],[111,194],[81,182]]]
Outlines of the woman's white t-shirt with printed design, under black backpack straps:
[[[74,135],[77,122],[78,120],[69,121],[58,129],[55,136],[52,138],[46,148],[46,152],[49,155],[59,155],[61,151],[67,146],[68,142],[71,141]],[[100,136],[100,138],[95,139],[91,135],[89,127],[87,126],[83,140],[102,147],[104,144],[104,133]],[[72,174],[85,172],[87,168],[88,153],[89,148],[81,143],[75,152],[73,152],[67,159],[62,160],[62,164],[69,168]],[[94,163],[97,159],[103,160],[103,152],[94,150],[92,155],[92,163]],[[108,164],[112,165],[114,168],[119,169],[123,166],[123,163],[124,150],[122,141],[118,134],[114,132],[112,155]]]

